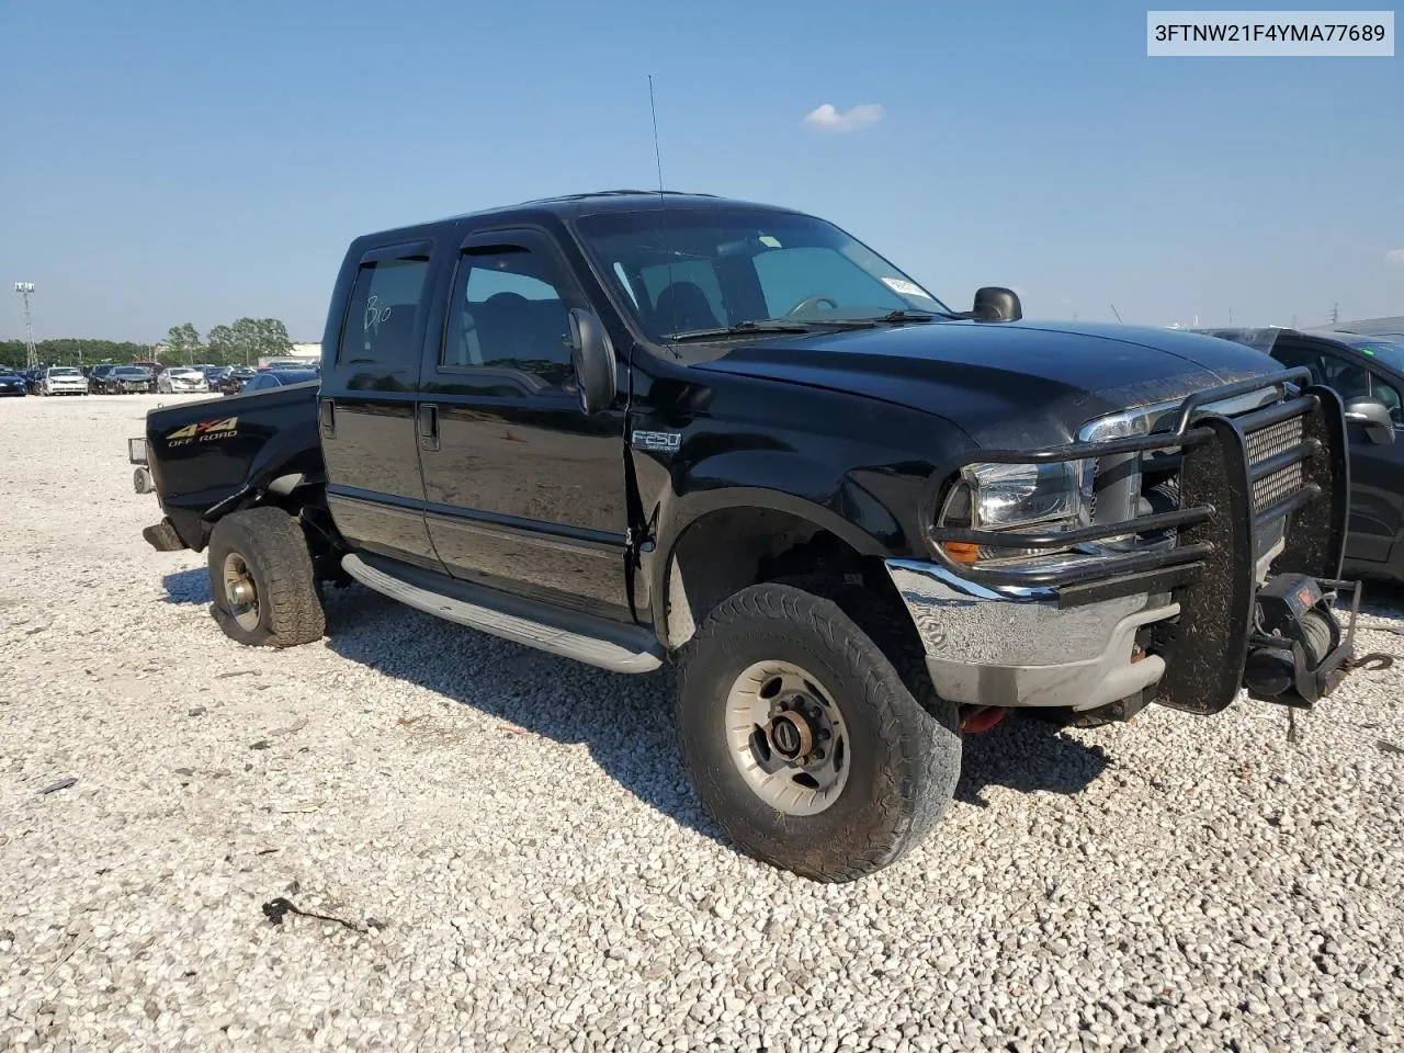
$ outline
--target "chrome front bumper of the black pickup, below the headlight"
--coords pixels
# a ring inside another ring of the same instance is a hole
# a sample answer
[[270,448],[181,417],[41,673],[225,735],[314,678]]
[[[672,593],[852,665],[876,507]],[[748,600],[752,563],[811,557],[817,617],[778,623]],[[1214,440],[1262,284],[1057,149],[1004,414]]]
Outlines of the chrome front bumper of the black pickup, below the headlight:
[[1136,630],[1179,614],[1141,592],[1060,609],[1053,590],[987,587],[935,563],[887,560],[927,651],[936,694],[972,706],[1098,709],[1160,681]]

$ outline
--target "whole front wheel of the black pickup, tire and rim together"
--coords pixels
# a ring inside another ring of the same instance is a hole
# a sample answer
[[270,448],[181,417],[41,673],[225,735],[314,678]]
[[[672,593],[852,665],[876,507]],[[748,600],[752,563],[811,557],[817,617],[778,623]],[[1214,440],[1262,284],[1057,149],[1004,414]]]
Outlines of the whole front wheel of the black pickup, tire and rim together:
[[866,595],[851,605],[887,653],[833,600],[775,583],[737,592],[688,644],[677,699],[708,812],[743,851],[830,882],[914,848],[960,775],[958,708],[900,622]]

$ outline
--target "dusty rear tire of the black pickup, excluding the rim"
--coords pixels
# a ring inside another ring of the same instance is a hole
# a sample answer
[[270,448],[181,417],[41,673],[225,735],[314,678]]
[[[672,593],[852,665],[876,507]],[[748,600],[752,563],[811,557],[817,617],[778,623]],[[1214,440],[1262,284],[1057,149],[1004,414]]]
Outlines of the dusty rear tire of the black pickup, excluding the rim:
[[[296,647],[326,633],[307,542],[288,512],[263,507],[226,515],[215,524],[208,555],[212,614],[226,636],[254,647]],[[232,555],[253,578],[257,612],[251,625],[240,623],[226,588]]]

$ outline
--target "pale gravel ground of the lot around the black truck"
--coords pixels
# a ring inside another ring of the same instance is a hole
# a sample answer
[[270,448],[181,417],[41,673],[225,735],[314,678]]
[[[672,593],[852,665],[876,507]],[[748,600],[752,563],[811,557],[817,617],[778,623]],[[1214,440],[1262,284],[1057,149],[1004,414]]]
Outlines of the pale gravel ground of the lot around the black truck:
[[0,1049],[1404,1046],[1404,663],[1296,746],[1247,702],[1007,722],[921,851],[814,885],[699,813],[667,673],[359,588],[225,639],[140,539],[157,400],[0,402]]

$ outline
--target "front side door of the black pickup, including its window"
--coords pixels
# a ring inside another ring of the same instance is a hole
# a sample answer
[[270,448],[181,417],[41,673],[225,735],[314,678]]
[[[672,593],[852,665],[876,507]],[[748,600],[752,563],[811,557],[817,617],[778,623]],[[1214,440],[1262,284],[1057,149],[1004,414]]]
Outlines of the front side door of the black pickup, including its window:
[[611,410],[580,411],[567,313],[584,293],[529,227],[469,234],[445,285],[418,407],[439,559],[462,580],[628,621],[626,388]]

